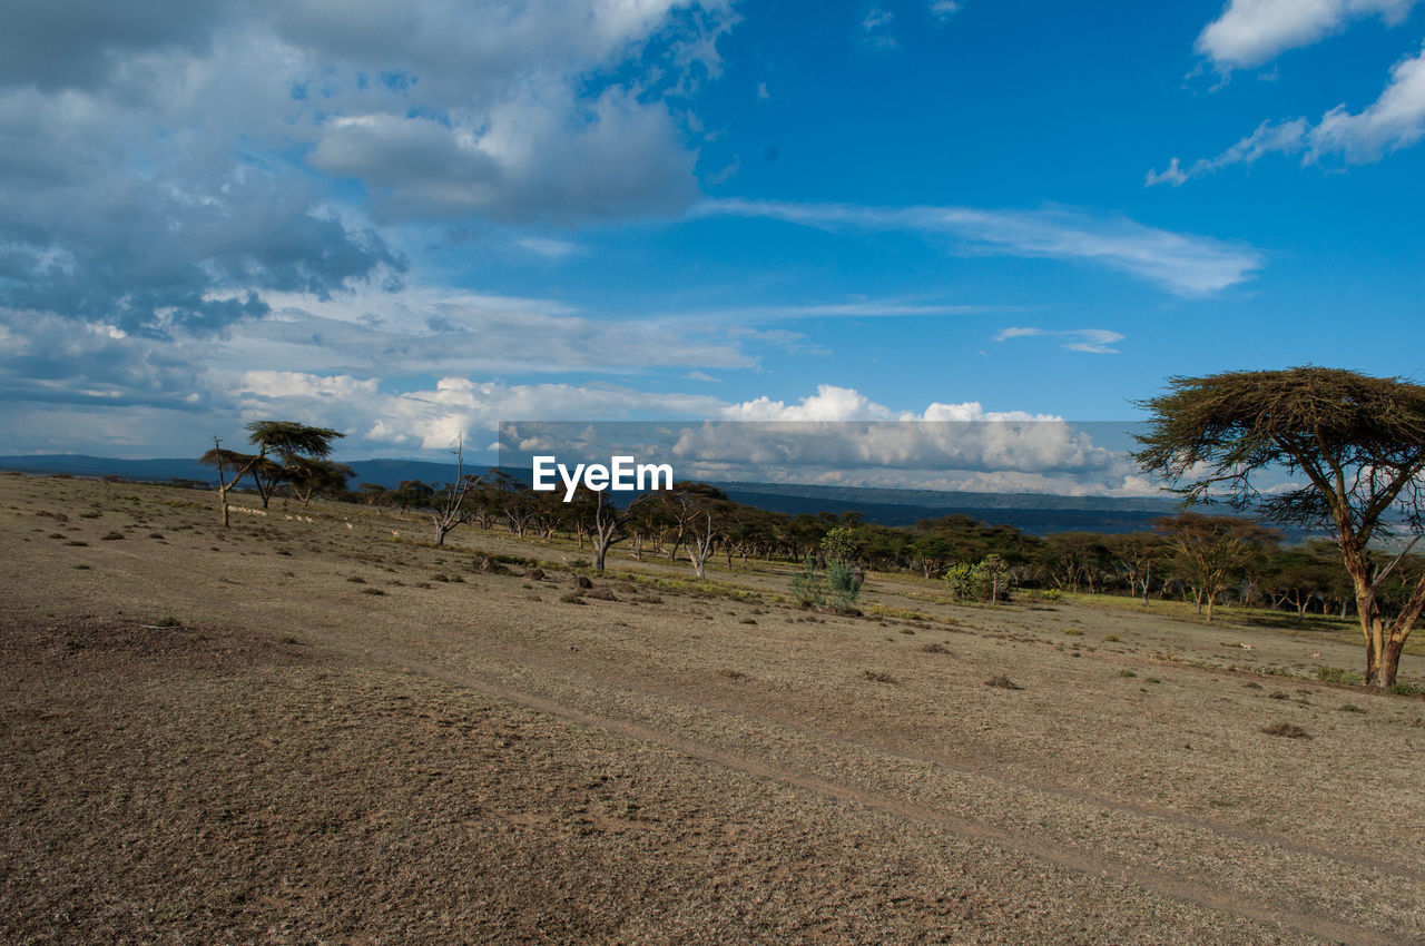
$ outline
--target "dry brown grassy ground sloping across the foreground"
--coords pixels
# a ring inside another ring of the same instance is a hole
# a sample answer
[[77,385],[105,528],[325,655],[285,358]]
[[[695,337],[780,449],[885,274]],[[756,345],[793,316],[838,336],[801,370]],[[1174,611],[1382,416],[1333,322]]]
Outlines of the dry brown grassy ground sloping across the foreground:
[[1337,634],[430,531],[0,476],[0,942],[1425,942]]

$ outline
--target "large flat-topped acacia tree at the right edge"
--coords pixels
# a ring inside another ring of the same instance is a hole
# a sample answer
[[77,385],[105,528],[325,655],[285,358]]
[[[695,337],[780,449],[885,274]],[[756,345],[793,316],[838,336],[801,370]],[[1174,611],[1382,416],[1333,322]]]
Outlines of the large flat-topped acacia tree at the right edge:
[[[1171,378],[1151,412],[1139,464],[1191,501],[1224,500],[1267,519],[1325,529],[1341,550],[1365,638],[1365,680],[1395,682],[1425,610],[1425,576],[1387,623],[1381,583],[1425,530],[1425,388],[1330,368]],[[1291,483],[1263,494],[1270,472]],[[1304,482],[1302,482],[1304,479]],[[1368,544],[1396,529],[1405,549],[1372,564]]]

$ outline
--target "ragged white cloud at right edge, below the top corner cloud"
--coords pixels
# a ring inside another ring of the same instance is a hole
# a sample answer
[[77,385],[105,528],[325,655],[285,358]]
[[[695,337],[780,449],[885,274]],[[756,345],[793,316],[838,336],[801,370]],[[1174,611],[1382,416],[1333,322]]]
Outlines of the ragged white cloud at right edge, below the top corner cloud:
[[1146,184],[1177,187],[1190,178],[1271,155],[1301,155],[1302,164],[1341,161],[1371,164],[1425,137],[1425,50],[1391,68],[1381,95],[1359,113],[1344,104],[1314,125],[1305,118],[1264,121],[1250,135],[1213,158],[1198,158],[1187,170],[1173,158],[1163,172],[1149,171]]

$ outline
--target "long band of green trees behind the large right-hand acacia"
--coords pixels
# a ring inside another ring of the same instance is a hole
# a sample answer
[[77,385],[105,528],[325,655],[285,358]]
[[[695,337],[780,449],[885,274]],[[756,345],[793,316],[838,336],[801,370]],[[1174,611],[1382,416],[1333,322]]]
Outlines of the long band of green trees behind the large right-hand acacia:
[[[227,457],[229,472],[238,469],[237,462]],[[284,469],[291,479],[284,477]],[[1330,539],[1284,544],[1280,533],[1241,516],[1183,511],[1154,520],[1151,531],[1033,536],[959,513],[915,526],[868,523],[859,513],[779,513],[737,503],[712,486],[690,482],[616,509],[606,494],[584,487],[566,503],[563,494],[534,492],[504,470],[466,474],[463,463],[455,482],[405,480],[396,487],[351,487],[351,470],[323,460],[285,466],[269,460],[254,470],[258,474],[248,477],[264,504],[272,496],[304,504],[322,496],[399,509],[429,517],[437,546],[466,524],[520,539],[567,539],[589,549],[598,570],[616,544],[627,544],[633,558],[683,561],[698,578],[705,577],[710,561],[734,570],[750,561],[802,564],[811,557],[826,567],[826,536],[838,530],[838,539],[849,539],[851,546],[836,558],[865,570],[940,580],[958,598],[1003,601],[1015,590],[1113,594],[1146,605],[1188,601],[1208,621],[1224,603],[1287,611],[1298,618],[1344,618],[1355,607],[1351,576]],[[607,520],[617,520],[616,529]],[[1384,551],[1375,554],[1382,568],[1388,557]],[[1425,558],[1406,556],[1382,587],[1385,607],[1404,605],[1421,576]]]

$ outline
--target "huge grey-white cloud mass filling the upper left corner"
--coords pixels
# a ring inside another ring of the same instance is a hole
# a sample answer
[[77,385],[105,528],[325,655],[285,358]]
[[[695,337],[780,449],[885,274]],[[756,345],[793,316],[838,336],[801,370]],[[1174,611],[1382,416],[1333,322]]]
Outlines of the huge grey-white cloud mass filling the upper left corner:
[[724,0],[19,0],[0,31],[0,305],[221,332],[271,292],[399,285],[408,262],[368,208],[674,212],[697,155],[668,101],[718,71],[732,21]]

